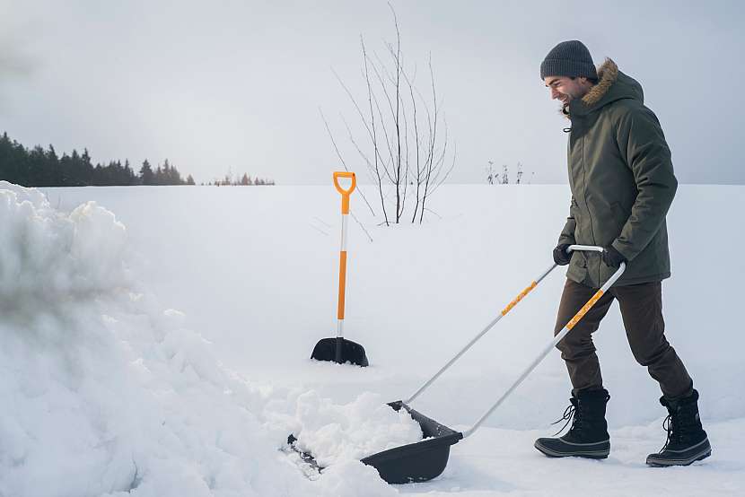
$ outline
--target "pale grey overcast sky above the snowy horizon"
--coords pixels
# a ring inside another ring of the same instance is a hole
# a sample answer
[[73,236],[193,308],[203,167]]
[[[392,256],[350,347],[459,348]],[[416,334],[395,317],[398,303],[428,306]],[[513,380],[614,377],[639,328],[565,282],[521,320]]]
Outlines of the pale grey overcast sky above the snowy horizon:
[[[425,89],[432,55],[457,144],[453,182],[484,183],[487,161],[566,182],[566,125],[539,65],[557,42],[581,39],[596,64],[611,57],[642,83],[681,182],[745,183],[741,2],[392,4]],[[136,170],[168,158],[197,182],[230,169],[326,184],[341,167],[319,109],[350,169],[365,170],[332,71],[364,98],[360,35],[385,54],[388,4],[0,0],[0,131]]]

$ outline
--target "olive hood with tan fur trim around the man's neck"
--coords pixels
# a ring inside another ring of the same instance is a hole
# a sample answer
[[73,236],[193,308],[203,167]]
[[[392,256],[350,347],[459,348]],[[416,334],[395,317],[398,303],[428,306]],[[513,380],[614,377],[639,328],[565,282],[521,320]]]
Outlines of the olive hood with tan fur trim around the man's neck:
[[600,81],[592,86],[582,99],[571,100],[563,107],[562,112],[567,116],[570,114],[582,116],[622,99],[634,99],[644,103],[642,85],[634,78],[620,72],[618,65],[611,59],[606,58],[605,62],[598,67],[598,79]]

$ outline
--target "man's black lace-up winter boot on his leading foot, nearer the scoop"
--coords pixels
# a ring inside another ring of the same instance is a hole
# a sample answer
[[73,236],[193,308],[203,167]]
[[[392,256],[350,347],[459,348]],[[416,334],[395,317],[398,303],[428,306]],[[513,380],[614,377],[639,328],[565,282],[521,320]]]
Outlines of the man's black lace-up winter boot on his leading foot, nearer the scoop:
[[608,390],[604,388],[580,392],[570,398],[572,405],[566,408],[564,417],[559,420],[566,420],[566,424],[572,422],[569,432],[557,439],[538,439],[535,448],[549,458],[607,458],[610,436],[605,421],[605,405],[609,398]]

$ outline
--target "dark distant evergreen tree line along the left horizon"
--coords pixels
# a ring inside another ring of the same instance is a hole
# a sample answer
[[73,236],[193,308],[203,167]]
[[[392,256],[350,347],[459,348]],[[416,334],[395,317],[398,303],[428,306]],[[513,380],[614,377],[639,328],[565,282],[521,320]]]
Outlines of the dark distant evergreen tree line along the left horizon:
[[[227,178],[227,177],[226,177]],[[155,168],[145,159],[139,170],[128,160],[92,164],[87,149],[83,153],[73,150],[60,157],[54,146],[43,149],[40,145],[29,149],[8,137],[0,136],[0,179],[23,187],[114,187],[136,185],[194,185],[189,174],[186,179],[168,159]],[[221,180],[209,185],[222,186]],[[204,183],[203,183],[204,184]],[[230,184],[230,183],[227,183]],[[273,185],[267,179],[250,179],[247,174],[236,185]]]

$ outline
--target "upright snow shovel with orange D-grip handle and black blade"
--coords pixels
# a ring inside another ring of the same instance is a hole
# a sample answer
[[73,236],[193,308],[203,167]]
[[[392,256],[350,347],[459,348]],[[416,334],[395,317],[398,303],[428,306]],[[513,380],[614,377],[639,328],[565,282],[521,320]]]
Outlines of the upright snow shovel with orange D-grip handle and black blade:
[[[352,184],[348,189],[339,185],[339,178],[348,178]],[[334,186],[341,194],[341,250],[339,251],[339,295],[337,306],[337,336],[322,338],[313,347],[311,359],[316,361],[333,361],[338,364],[350,362],[357,366],[367,366],[367,355],[364,347],[344,338],[344,298],[346,290],[346,226],[349,218],[349,196],[355,191],[357,179],[354,172],[335,172]]]

